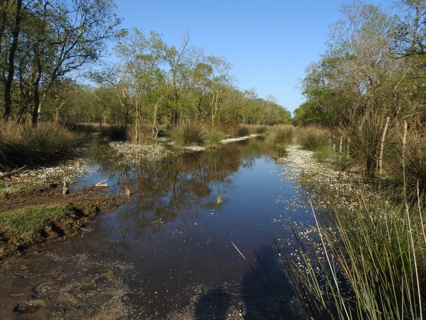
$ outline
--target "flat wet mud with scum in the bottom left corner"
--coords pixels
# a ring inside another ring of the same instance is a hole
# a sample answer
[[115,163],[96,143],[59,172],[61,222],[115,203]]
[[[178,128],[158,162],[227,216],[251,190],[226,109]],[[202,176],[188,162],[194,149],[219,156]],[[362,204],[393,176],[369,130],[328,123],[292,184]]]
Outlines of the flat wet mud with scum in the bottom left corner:
[[[125,319],[129,266],[85,254],[62,256],[34,246],[0,268],[1,319]],[[10,277],[10,273],[16,276]]]

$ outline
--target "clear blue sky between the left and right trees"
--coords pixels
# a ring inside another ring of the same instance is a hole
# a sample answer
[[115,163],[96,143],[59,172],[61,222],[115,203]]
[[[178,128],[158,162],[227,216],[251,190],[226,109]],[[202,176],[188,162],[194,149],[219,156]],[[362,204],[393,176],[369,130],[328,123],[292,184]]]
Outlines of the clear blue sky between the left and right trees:
[[[341,18],[338,0],[120,0],[123,28],[162,34],[179,46],[189,30],[190,45],[224,56],[240,90],[272,94],[290,111],[303,96],[297,88],[304,68],[325,53],[329,26]],[[386,11],[391,0],[373,0]]]

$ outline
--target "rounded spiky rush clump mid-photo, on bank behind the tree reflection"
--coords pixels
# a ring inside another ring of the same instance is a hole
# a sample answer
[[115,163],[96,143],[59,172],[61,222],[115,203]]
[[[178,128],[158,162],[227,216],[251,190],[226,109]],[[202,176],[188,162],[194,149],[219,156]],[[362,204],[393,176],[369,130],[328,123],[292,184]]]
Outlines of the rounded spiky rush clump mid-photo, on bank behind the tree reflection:
[[197,146],[205,143],[204,126],[197,122],[182,122],[171,131],[171,139],[177,146]]

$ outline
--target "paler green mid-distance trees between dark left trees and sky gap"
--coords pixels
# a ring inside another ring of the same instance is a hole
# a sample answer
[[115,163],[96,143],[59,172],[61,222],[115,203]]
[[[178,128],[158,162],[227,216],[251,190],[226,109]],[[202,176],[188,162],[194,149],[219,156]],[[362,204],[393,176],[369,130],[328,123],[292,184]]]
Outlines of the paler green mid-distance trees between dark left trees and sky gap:
[[[205,55],[189,45],[168,46],[152,31],[124,30],[114,50],[119,62],[92,73],[100,86],[94,94],[105,105],[99,110],[114,122],[176,124],[181,120],[202,123],[275,124],[287,122],[291,113],[272,95],[258,98],[254,88],[240,91],[224,57]],[[137,139],[136,139],[137,140]]]

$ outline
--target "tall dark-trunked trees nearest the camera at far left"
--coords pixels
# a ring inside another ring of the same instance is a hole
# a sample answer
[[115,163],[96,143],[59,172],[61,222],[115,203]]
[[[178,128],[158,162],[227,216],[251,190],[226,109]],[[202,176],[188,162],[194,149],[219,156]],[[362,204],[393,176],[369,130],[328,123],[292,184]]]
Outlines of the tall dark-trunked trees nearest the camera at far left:
[[65,76],[76,76],[105,52],[105,40],[115,37],[115,28],[120,23],[114,9],[112,0],[2,3],[4,118],[11,116],[12,97],[18,95],[14,91],[19,88],[20,102],[24,104],[17,117],[25,118],[27,106],[32,103],[32,123],[36,124],[55,82]]

